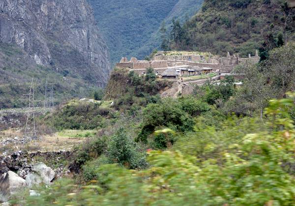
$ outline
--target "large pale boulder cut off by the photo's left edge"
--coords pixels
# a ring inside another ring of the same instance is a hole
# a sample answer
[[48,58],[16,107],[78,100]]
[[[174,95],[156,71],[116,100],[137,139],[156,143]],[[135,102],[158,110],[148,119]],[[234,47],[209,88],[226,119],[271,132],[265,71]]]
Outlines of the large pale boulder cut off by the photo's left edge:
[[26,186],[26,181],[12,171],[8,171],[0,178],[0,193],[4,196],[14,195]]

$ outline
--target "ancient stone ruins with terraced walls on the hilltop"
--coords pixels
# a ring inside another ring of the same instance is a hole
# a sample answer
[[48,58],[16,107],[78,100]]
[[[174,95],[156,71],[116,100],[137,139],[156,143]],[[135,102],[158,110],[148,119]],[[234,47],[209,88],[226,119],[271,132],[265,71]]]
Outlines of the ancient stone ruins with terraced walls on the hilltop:
[[155,73],[162,75],[167,71],[176,70],[179,76],[196,76],[201,74],[208,74],[215,72],[230,73],[236,65],[250,61],[255,64],[260,61],[258,51],[255,56],[249,54],[248,58],[240,58],[235,54],[231,55],[227,52],[227,56],[219,57],[213,56],[209,53],[209,56],[205,58],[202,55],[165,55],[164,52],[158,52],[154,55],[153,59],[138,60],[136,57],[132,57],[130,61],[126,57],[123,57],[121,61],[116,64],[116,67],[121,69],[129,69],[140,75],[145,75],[148,68],[153,68]]

